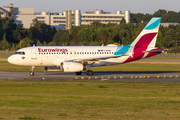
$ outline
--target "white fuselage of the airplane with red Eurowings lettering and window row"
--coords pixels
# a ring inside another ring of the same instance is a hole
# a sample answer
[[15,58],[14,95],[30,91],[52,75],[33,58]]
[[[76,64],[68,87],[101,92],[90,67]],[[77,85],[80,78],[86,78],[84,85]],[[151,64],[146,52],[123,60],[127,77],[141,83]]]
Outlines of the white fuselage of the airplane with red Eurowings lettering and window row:
[[[117,46],[36,46],[23,48],[17,52],[25,54],[14,54],[9,57],[8,61],[23,66],[59,66],[61,62],[68,60],[126,54],[124,50],[117,52]],[[120,64],[128,57],[95,61],[91,66]]]

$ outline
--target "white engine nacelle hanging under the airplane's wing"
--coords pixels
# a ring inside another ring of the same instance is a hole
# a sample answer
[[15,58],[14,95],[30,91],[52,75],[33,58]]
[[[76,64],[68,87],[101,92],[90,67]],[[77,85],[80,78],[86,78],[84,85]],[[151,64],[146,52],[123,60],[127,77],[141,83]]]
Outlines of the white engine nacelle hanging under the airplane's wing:
[[80,72],[86,70],[85,65],[76,62],[63,62],[60,67],[63,72]]

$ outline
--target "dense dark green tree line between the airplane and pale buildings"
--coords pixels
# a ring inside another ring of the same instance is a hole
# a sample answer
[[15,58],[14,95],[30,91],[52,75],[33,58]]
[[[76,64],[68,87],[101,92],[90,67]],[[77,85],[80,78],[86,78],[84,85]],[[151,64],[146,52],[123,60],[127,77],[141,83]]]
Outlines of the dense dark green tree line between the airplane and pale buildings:
[[[131,13],[131,22],[126,24],[102,24],[94,21],[90,25],[74,26],[71,30],[58,31],[37,19],[32,21],[29,29],[14,23],[12,18],[0,18],[0,50],[17,50],[23,47],[48,46],[99,46],[107,44],[128,45],[139,35],[152,17],[161,17],[162,22],[180,23],[180,12],[158,10],[154,14]],[[136,24],[134,24],[136,23]],[[180,26],[162,27],[158,33],[156,46],[171,48],[180,52]]]

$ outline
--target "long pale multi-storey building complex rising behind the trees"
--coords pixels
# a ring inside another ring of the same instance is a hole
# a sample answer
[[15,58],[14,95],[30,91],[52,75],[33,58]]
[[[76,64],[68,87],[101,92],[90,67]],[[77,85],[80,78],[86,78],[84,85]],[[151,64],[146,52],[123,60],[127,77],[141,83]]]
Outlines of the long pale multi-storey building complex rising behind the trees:
[[41,23],[54,26],[56,28],[71,29],[72,26],[88,25],[93,21],[99,21],[103,24],[117,23],[120,24],[122,18],[126,20],[126,23],[130,22],[130,11],[116,11],[115,14],[105,12],[104,10],[94,10],[81,14],[80,10],[66,10],[62,13],[50,13],[50,12],[39,12],[34,13],[34,8],[18,8],[14,7],[13,4],[9,6],[0,7],[2,17],[13,17],[15,23],[23,24],[25,28],[29,28],[32,20],[37,18]]

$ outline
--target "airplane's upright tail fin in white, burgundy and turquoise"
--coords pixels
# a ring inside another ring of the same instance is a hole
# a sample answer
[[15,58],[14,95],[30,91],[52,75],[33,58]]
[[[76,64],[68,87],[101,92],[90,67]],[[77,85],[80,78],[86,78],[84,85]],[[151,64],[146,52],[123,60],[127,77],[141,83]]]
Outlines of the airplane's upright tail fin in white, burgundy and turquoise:
[[132,42],[132,44],[130,44],[130,48],[127,52],[130,57],[125,62],[149,56],[148,54],[145,54],[145,52],[147,50],[150,51],[155,49],[160,22],[161,18],[155,17],[151,19],[138,37]]

